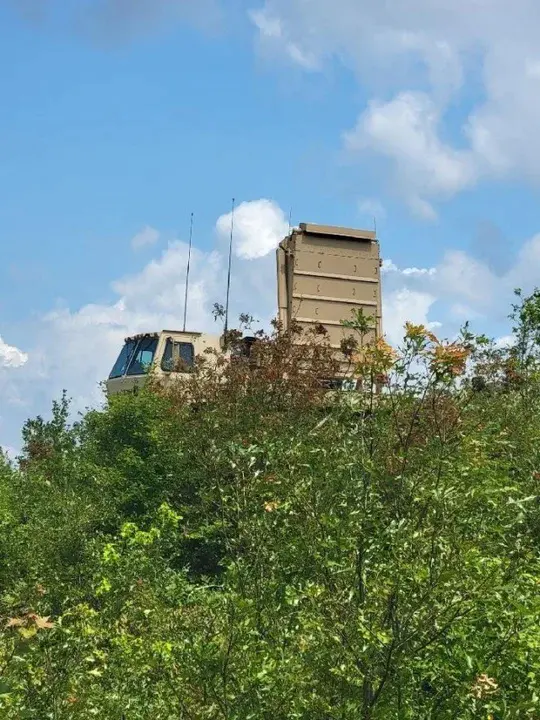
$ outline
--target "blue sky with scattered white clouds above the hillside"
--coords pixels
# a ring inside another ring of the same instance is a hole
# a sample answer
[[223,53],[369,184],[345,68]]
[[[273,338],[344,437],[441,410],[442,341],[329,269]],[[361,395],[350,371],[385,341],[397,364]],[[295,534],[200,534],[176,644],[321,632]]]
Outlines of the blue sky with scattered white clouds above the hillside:
[[273,314],[291,209],[377,215],[393,340],[407,317],[504,335],[536,282],[532,0],[193,8],[0,0],[0,445],[64,387],[98,402],[123,335],[181,317],[191,212],[212,328],[232,196],[237,311]]

